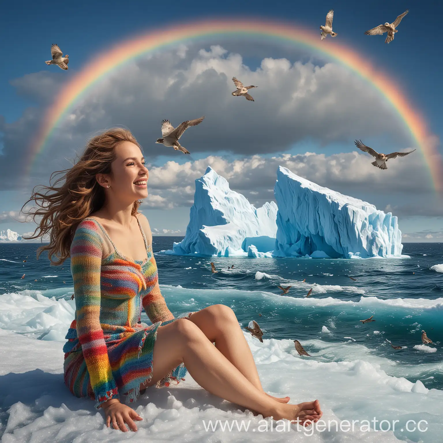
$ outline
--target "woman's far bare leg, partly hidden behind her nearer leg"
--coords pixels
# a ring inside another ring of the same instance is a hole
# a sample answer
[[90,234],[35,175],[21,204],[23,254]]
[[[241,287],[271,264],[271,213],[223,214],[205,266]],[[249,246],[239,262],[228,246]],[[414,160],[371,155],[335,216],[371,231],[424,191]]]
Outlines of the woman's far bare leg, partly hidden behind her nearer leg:
[[[248,342],[238,324],[234,311],[229,306],[223,304],[208,306],[201,311],[194,312],[189,320],[203,331],[210,342],[215,342],[215,347],[221,354],[258,390],[264,392]],[[288,396],[269,396],[282,403],[289,401]]]

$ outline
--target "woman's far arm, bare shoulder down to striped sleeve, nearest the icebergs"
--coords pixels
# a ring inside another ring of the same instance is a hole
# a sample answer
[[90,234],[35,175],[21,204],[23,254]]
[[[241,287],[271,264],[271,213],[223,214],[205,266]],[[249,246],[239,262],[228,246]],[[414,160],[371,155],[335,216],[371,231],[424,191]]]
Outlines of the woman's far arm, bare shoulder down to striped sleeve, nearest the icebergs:
[[148,219],[143,214],[138,214],[140,225],[142,225],[146,242],[148,243],[148,255],[151,256],[151,263],[154,265],[154,275],[151,277],[155,281],[152,290],[143,297],[142,303],[146,315],[152,323],[174,319],[174,315],[166,306],[166,301],[160,292],[157,264],[155,263],[154,253],[152,252],[152,232]]

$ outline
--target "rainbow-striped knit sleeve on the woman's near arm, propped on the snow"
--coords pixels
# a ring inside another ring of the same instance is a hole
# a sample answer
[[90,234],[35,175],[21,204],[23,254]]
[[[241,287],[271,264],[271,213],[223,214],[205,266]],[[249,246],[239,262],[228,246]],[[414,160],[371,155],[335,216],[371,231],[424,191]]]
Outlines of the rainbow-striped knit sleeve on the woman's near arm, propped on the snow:
[[71,272],[77,316],[77,336],[82,345],[96,408],[119,398],[100,324],[102,241],[93,221],[82,221],[71,243]]

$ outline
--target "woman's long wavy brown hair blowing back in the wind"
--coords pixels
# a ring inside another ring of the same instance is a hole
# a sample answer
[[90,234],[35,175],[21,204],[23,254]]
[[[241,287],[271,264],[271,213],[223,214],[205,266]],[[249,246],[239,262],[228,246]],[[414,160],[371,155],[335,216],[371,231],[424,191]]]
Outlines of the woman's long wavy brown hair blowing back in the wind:
[[[31,198],[22,206],[35,201],[39,208],[23,214],[31,214],[37,228],[26,240],[43,237],[49,233],[49,245],[37,249],[37,259],[43,251],[49,251],[48,257],[54,265],[62,264],[70,256],[70,246],[75,229],[80,222],[93,212],[99,210],[105,203],[105,191],[96,178],[96,174],[111,174],[111,163],[115,160],[115,148],[122,141],[130,141],[141,146],[131,131],[124,128],[111,128],[102,134],[94,136],[86,144],[86,148],[73,167],[63,171],[55,171],[49,179],[49,186],[37,185],[32,190]],[[53,185],[53,175],[63,174]],[[38,188],[35,191],[35,188]],[[47,190],[45,194],[43,190]],[[138,213],[141,201],[137,200],[132,206],[132,215]],[[39,231],[36,234],[36,231]],[[55,256],[55,259],[52,258]]]

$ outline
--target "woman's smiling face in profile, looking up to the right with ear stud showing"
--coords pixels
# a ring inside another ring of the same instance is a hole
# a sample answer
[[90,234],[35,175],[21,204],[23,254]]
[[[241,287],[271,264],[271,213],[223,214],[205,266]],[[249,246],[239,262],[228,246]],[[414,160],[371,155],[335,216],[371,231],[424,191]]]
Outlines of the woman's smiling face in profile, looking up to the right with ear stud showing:
[[109,184],[113,194],[121,195],[125,200],[146,198],[149,172],[144,167],[144,156],[140,148],[130,141],[124,141],[118,144],[115,153],[116,159],[111,163],[112,174],[109,175],[105,187]]

